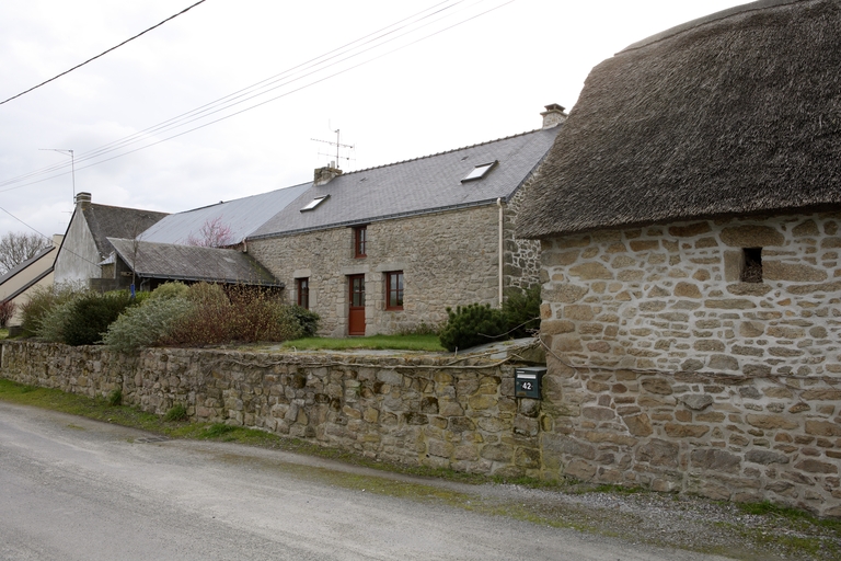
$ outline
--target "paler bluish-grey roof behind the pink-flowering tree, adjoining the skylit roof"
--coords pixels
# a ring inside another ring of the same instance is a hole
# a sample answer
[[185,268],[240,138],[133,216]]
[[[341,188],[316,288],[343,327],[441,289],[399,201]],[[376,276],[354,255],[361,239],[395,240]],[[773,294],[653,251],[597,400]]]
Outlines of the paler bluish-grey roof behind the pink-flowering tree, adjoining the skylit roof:
[[187,244],[191,236],[200,238],[199,230],[208,220],[219,219],[231,230],[231,245],[241,243],[266,220],[295,201],[309,183],[250,197],[227,201],[184,213],[166,216],[140,234],[143,241]]

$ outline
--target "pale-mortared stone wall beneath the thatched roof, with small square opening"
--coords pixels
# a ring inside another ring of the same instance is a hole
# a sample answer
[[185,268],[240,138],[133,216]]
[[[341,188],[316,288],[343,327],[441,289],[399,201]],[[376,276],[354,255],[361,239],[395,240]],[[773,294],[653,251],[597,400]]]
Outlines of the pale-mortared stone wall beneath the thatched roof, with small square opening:
[[839,222],[544,241],[546,476],[841,516]]

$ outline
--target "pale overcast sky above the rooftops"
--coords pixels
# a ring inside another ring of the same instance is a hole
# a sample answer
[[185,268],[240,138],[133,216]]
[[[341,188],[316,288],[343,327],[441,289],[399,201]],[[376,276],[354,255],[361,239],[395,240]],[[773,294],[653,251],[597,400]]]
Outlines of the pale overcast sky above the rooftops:
[[[196,1],[3,0],[0,101]],[[206,0],[0,104],[0,233],[30,231],[10,214],[47,236],[67,228],[70,157],[43,149],[74,150],[76,192],[94,203],[187,210],[311,181],[335,160],[311,139],[336,129],[354,171],[539,128],[543,106],[573,107],[601,60],[740,3]],[[235,105],[171,121],[267,79]]]

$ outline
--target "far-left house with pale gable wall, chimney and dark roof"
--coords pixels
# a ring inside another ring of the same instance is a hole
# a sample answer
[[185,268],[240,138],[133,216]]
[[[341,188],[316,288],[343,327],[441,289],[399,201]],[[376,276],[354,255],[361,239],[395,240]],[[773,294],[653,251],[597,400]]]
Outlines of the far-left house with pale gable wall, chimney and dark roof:
[[114,270],[112,238],[135,238],[166,216],[165,213],[95,205],[90,193],[76,195],[76,208],[56,255],[54,282],[85,283],[101,289],[116,286],[103,278],[103,265]]

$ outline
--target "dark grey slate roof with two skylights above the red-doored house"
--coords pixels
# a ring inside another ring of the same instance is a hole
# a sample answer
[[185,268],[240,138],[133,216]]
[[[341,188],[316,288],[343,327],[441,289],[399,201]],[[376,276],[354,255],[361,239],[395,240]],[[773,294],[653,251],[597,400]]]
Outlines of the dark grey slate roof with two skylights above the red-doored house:
[[[249,239],[508,201],[543,160],[564,125],[345,173],[309,187]],[[498,161],[483,179],[461,183],[476,165]],[[314,210],[301,208],[330,197]]]

